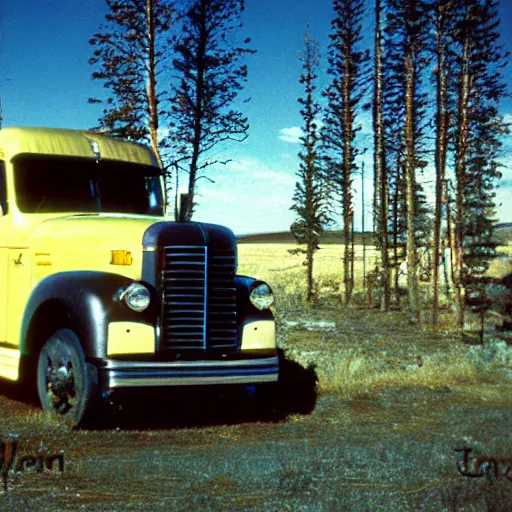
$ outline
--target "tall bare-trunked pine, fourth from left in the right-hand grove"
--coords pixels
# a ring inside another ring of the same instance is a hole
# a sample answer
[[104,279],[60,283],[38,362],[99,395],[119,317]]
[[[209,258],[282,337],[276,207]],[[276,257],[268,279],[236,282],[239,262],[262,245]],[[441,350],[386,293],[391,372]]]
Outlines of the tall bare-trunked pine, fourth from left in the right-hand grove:
[[[386,91],[386,97],[390,99],[386,118],[394,116],[403,123],[395,133],[388,128],[387,144],[394,148],[394,162],[390,159],[390,163],[394,163],[398,171],[402,164],[404,169],[407,289],[409,308],[416,319],[419,319],[420,313],[417,247],[425,235],[421,225],[425,220],[419,215],[422,190],[417,176],[426,166],[424,138],[427,103],[422,88],[422,73],[428,64],[428,7],[424,0],[389,0],[386,19],[387,62],[391,76]],[[397,172],[396,176],[399,175],[400,172]],[[399,185],[397,181],[397,198]]]

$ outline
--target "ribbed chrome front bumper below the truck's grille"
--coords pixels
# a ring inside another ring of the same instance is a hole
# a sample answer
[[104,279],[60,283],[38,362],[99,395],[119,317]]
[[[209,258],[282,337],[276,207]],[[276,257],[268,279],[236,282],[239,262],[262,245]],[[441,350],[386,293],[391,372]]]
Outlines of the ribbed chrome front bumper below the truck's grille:
[[104,389],[277,382],[277,356],[227,361],[97,362]]

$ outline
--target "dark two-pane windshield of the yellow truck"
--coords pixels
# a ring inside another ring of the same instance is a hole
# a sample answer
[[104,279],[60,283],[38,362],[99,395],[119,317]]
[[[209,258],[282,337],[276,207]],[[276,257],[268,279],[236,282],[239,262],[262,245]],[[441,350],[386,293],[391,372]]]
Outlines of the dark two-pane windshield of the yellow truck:
[[17,203],[24,213],[164,214],[157,167],[32,154],[15,157],[13,165]]

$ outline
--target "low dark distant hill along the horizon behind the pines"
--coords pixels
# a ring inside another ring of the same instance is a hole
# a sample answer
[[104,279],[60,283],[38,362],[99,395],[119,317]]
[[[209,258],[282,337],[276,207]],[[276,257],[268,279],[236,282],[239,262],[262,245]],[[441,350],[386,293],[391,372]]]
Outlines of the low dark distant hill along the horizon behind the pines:
[[[503,222],[495,226],[495,236],[504,245],[512,243],[512,222]],[[238,235],[239,244],[293,244],[295,238],[289,231],[280,231],[278,233],[258,233],[254,235]],[[373,233],[365,232],[355,233],[356,245],[375,245]],[[342,244],[342,231],[326,231],[320,237],[320,244]]]

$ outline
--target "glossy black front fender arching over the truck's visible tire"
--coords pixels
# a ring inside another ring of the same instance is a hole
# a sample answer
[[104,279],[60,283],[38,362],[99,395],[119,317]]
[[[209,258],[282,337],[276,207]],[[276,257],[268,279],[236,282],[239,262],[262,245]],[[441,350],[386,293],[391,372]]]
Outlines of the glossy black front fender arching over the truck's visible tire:
[[119,274],[94,271],[61,272],[38,283],[27,302],[21,327],[21,351],[28,353],[28,333],[32,319],[41,307],[58,301],[68,314],[67,323],[76,332],[88,358],[106,357],[108,325],[110,322],[137,322],[155,325],[157,295],[151,306],[142,313],[132,311],[126,304],[115,302],[119,288],[133,280]]

